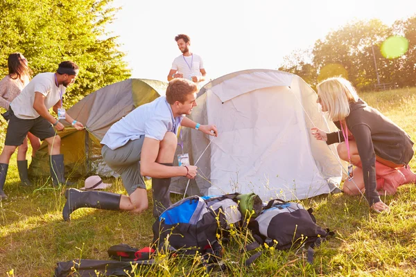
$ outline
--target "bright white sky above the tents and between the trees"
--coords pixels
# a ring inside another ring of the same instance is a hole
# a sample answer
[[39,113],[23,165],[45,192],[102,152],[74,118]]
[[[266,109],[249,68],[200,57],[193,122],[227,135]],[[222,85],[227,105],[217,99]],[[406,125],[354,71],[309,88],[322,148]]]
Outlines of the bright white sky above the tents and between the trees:
[[114,0],[108,26],[119,35],[132,78],[165,80],[180,55],[174,40],[191,37],[209,78],[244,69],[277,69],[283,57],[309,48],[354,19],[391,25],[416,15],[414,0]]

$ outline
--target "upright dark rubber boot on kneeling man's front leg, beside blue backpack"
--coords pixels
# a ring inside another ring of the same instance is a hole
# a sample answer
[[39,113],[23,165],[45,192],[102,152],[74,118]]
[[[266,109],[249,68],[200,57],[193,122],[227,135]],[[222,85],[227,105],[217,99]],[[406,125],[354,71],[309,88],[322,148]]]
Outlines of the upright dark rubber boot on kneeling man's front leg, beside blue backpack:
[[[161,164],[164,166],[173,166],[173,163]],[[154,217],[159,217],[166,210],[166,208],[172,205],[169,186],[171,186],[171,178],[152,178]]]

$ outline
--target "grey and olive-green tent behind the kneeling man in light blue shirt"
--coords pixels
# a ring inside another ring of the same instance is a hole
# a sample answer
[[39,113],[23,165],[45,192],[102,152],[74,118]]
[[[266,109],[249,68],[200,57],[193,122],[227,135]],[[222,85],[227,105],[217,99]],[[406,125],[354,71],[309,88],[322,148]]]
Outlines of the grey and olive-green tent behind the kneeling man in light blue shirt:
[[[67,113],[85,126],[77,131],[67,122],[61,137],[61,154],[64,154],[65,177],[87,175],[110,177],[114,172],[101,157],[100,141],[110,127],[130,111],[163,96],[167,82],[146,79],[128,79],[103,87],[73,105]],[[42,143],[29,168],[33,176],[49,176],[48,145]]]

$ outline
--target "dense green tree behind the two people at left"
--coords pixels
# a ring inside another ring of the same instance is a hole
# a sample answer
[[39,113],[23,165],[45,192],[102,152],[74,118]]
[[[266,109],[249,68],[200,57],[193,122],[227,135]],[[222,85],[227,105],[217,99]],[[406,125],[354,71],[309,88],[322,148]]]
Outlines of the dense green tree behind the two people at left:
[[0,0],[0,74],[7,57],[21,52],[34,74],[55,72],[72,60],[80,74],[68,88],[64,106],[87,94],[130,77],[116,37],[105,32],[118,8],[112,0]]

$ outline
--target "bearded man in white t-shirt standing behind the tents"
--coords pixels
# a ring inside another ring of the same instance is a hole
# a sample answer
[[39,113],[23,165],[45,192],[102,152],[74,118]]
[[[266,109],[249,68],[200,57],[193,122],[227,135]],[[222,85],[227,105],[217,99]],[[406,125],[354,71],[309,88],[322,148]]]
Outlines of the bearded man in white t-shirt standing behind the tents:
[[176,57],[172,63],[172,69],[168,74],[168,81],[174,78],[184,78],[191,80],[196,84],[205,81],[207,72],[204,69],[202,57],[191,53],[189,47],[191,46],[191,39],[189,36],[180,34],[175,37],[177,47],[182,52],[182,55]]

